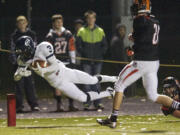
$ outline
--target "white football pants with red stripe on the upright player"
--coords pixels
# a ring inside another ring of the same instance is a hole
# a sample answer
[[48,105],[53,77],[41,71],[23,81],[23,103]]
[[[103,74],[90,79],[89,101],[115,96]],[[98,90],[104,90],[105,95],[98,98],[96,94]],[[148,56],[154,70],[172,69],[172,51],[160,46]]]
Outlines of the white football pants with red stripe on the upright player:
[[157,93],[158,69],[159,61],[132,61],[120,72],[119,80],[115,83],[115,91],[124,92],[126,87],[142,77],[148,98],[155,102],[159,96]]

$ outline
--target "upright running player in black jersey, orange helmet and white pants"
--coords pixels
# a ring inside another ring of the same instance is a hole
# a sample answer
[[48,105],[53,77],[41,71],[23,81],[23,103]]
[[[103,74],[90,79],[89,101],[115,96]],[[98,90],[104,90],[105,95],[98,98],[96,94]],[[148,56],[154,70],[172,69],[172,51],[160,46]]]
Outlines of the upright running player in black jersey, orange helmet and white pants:
[[97,119],[101,125],[115,128],[120,105],[122,104],[125,88],[142,77],[143,85],[148,98],[155,103],[180,109],[180,103],[166,95],[157,93],[159,69],[158,41],[160,26],[158,21],[150,16],[149,0],[134,0],[133,33],[129,37],[134,42],[134,60],[126,65],[119,74],[119,80],[115,83],[115,97],[113,110],[107,119]]

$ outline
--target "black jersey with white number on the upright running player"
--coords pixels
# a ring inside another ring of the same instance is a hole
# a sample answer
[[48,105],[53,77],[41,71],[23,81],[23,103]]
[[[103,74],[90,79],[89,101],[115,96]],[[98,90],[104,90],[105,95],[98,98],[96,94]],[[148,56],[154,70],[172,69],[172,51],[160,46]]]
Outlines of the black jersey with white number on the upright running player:
[[159,21],[154,17],[137,16],[133,21],[134,59],[158,60]]

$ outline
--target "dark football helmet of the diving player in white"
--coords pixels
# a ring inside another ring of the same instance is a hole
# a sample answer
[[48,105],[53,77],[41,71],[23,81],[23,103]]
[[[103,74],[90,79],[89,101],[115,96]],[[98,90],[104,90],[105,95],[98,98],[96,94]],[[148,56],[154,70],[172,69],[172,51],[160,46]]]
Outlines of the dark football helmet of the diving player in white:
[[22,36],[16,41],[16,51],[24,60],[29,60],[35,52],[35,45],[31,37]]

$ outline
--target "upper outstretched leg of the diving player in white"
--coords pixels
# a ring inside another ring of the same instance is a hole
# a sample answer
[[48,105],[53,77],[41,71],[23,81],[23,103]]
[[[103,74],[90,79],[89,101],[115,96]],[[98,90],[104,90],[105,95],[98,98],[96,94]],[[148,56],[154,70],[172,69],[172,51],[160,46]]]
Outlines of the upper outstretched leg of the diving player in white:
[[97,84],[104,82],[116,82],[117,76],[96,75],[91,76],[80,70],[65,68],[63,80],[76,84]]

